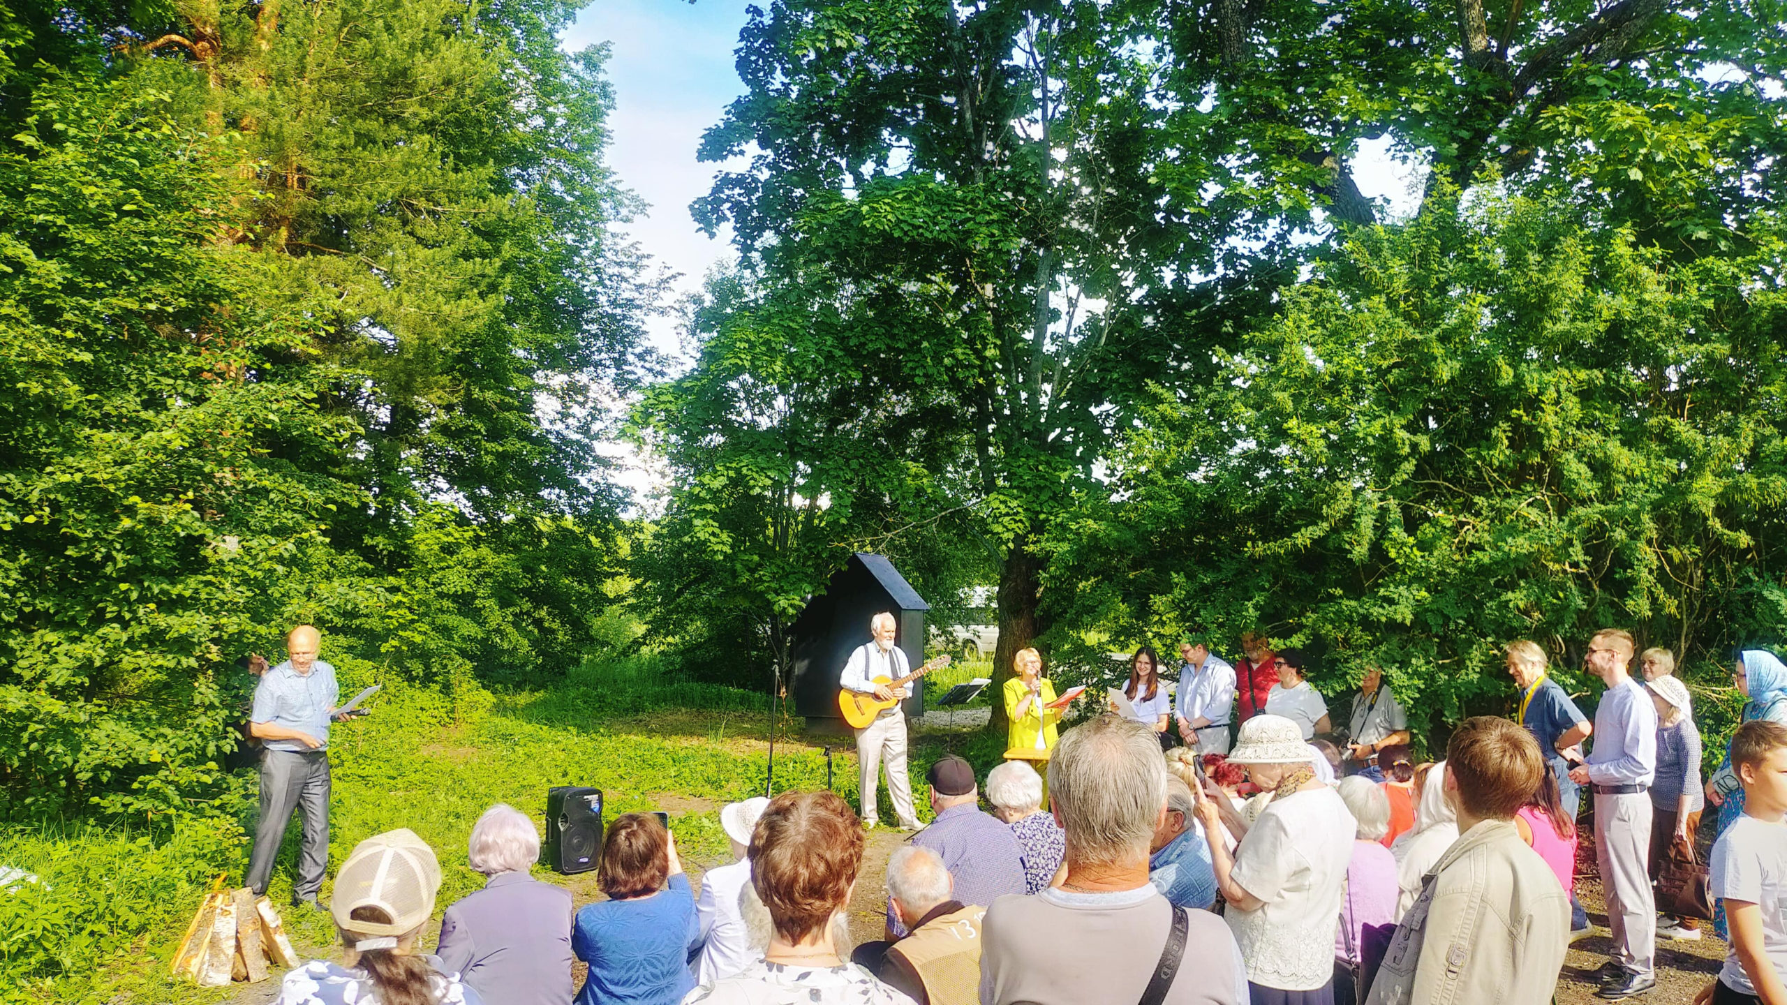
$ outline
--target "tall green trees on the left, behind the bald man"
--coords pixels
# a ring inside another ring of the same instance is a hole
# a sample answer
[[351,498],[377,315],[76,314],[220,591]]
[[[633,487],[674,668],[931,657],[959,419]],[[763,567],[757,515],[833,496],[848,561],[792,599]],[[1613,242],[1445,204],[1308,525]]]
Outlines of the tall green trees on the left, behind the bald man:
[[231,667],[298,621],[449,694],[595,646],[652,290],[568,16],[7,11],[0,812],[222,812]]

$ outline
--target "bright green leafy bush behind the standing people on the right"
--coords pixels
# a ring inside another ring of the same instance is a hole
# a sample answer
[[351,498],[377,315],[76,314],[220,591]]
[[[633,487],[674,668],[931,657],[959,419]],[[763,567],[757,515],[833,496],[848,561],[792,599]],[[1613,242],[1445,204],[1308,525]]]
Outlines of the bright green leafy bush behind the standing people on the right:
[[1056,617],[1260,626],[1324,649],[1330,692],[1385,667],[1426,722],[1501,712],[1512,638],[1564,667],[1603,626],[1694,662],[1776,640],[1778,250],[1669,263],[1487,195],[1356,232],[1231,383],[1162,390],[1119,501],[1058,538]]

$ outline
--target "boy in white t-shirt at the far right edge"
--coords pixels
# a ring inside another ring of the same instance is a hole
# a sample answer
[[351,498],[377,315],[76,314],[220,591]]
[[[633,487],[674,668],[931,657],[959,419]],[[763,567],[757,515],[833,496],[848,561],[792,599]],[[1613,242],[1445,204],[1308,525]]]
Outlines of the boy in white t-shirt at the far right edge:
[[1732,737],[1744,815],[1712,846],[1712,896],[1724,901],[1732,948],[1696,1005],[1787,1005],[1787,726],[1758,719]]

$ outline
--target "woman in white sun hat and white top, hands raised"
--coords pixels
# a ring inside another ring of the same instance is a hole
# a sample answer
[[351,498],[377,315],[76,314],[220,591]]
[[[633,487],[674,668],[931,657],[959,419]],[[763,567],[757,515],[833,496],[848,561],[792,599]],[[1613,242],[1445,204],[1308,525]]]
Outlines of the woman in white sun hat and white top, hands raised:
[[1333,944],[1358,821],[1340,794],[1315,778],[1296,722],[1254,715],[1242,722],[1229,764],[1272,792],[1231,857],[1217,805],[1197,801],[1224,921],[1240,944],[1253,1005],[1328,1005]]

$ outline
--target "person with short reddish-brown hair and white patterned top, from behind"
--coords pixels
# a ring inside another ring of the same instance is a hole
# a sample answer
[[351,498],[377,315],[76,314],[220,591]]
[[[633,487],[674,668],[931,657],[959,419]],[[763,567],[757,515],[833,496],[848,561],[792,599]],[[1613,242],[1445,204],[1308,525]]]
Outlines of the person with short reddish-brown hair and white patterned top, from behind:
[[842,917],[861,866],[863,828],[849,803],[831,792],[770,799],[751,837],[751,887],[768,908],[768,948],[761,960],[702,982],[683,1001],[911,1005],[845,959]]

